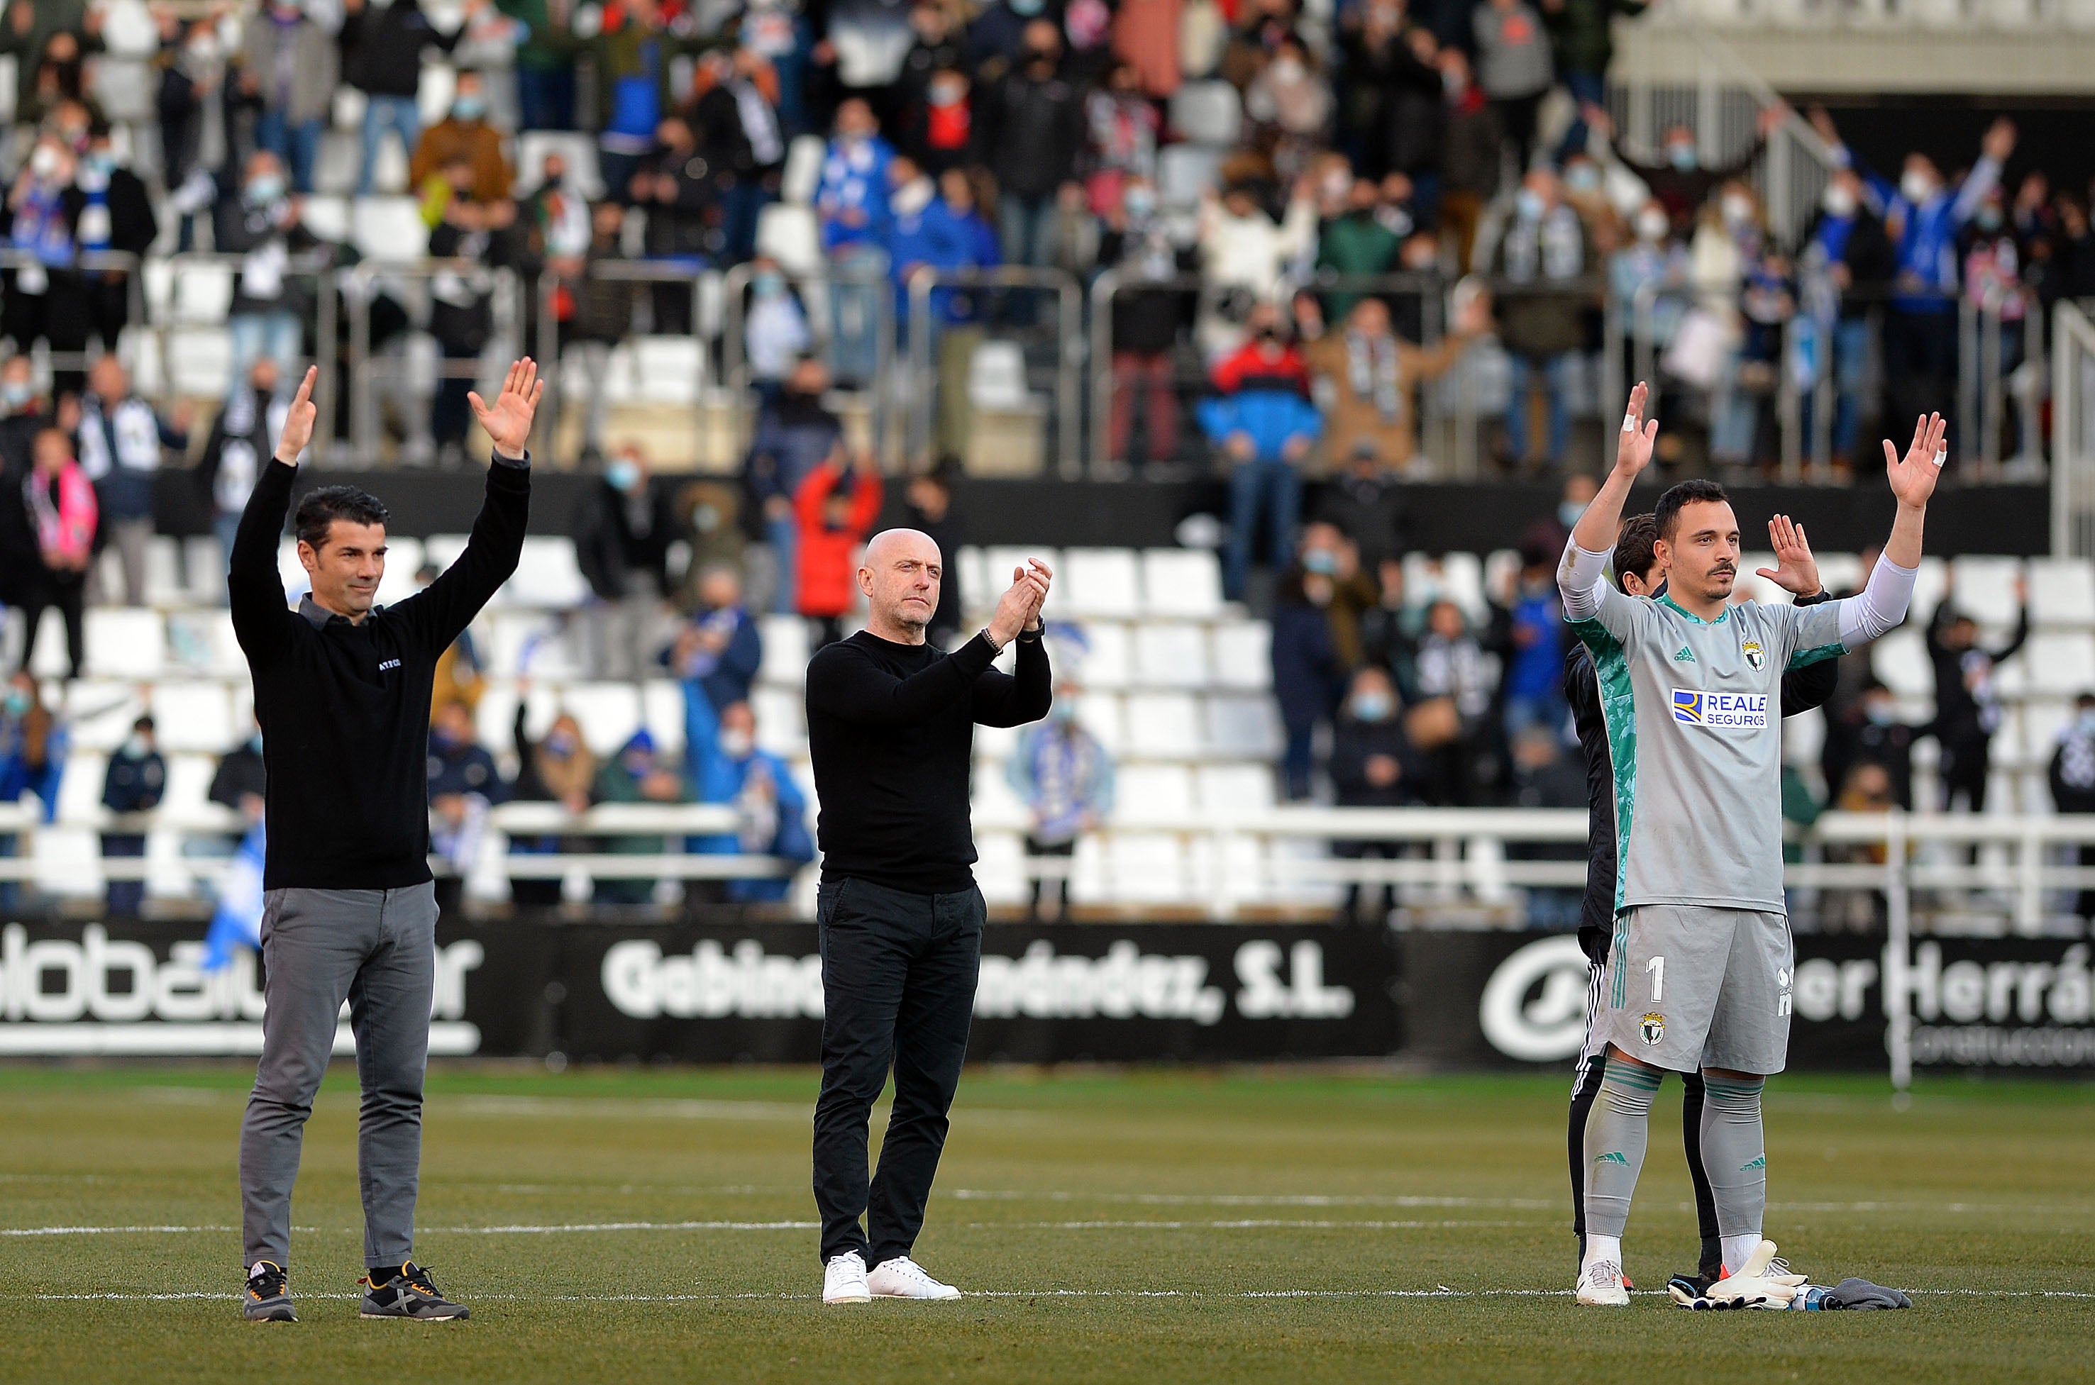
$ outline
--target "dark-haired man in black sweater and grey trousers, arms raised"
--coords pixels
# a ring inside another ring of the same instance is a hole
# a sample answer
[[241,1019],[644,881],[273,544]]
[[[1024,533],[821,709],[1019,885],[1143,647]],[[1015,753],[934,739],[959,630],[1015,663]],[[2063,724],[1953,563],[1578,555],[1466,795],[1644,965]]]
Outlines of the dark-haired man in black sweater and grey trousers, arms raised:
[[436,985],[429,878],[429,687],[436,660],[509,580],[530,511],[532,411],[545,386],[517,360],[488,406],[488,499],[471,541],[429,587],[373,606],[385,576],[385,507],[354,486],[308,492],[293,520],[312,593],[289,610],[277,536],[297,455],[312,438],[312,386],[291,400],[277,463],[256,480],[233,541],[233,633],[256,685],[268,769],[262,870],[262,1062],[241,1121],[241,1209],[256,1322],[295,1322],[291,1184],[312,1096],[350,1002],[365,1100],[356,1131],[365,1194],[365,1318],[463,1318],[413,1261],[421,1180],[421,1079]]

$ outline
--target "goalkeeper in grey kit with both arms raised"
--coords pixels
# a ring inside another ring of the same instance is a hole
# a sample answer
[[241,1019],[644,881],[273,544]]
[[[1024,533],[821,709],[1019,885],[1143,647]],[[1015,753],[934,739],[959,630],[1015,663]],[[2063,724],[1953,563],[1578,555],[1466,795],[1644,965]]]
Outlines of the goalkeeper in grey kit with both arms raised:
[[[1762,1238],[1766,1148],[1760,1094],[1789,1050],[1793,951],[1783,905],[1781,679],[1837,658],[1906,618],[1946,425],[1929,415],[1898,455],[1883,444],[1898,513],[1860,595],[1821,606],[1730,606],[1739,522],[1722,486],[1659,497],[1668,591],[1615,591],[1605,568],[1657,421],[1630,394],[1615,467],[1571,530],[1557,585],[1592,652],[1615,775],[1615,907],[1594,1018],[1607,1075],[1586,1125],[1586,1253],[1578,1301],[1624,1305],[1622,1234],[1645,1163],[1661,1073],[1701,1071],[1703,1163],[1726,1276],[1716,1305],[1785,1307],[1800,1276],[1770,1270]],[[1781,515],[1779,572],[1810,553]],[[1789,582],[1781,582],[1789,585]]]

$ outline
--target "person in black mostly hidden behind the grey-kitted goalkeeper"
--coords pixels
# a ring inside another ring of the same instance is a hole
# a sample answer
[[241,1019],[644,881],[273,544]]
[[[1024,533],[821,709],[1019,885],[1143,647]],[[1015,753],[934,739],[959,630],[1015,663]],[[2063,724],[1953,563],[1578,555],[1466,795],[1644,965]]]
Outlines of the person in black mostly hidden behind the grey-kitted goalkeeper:
[[[1768,536],[1777,532],[1777,522],[1768,522]],[[1798,545],[1804,545],[1804,526],[1795,526]],[[1615,587],[1632,597],[1657,597],[1666,582],[1666,568],[1653,551],[1659,538],[1655,515],[1630,515],[1622,522],[1615,538],[1615,557],[1609,572]],[[1808,549],[1806,549],[1808,553]],[[1785,582],[1798,606],[1818,606],[1833,595],[1818,582],[1818,564],[1802,562],[1793,570],[1762,568],[1762,576]],[[1818,660],[1806,668],[1783,675],[1783,717],[1795,717],[1821,706],[1833,696],[1839,679],[1839,660]],[[1578,1236],[1580,1255],[1586,1253],[1586,1119],[1601,1096],[1601,1079],[1607,1075],[1607,1043],[1594,1037],[1594,1020],[1601,1012],[1601,983],[1607,976],[1607,945],[1615,935],[1615,767],[1607,744],[1607,721],[1601,717],[1601,681],[1594,677],[1592,652],[1573,641],[1565,650],[1565,702],[1571,706],[1571,723],[1578,727],[1580,750],[1586,756],[1586,899],[1580,907],[1578,945],[1590,964],[1586,981],[1586,1041],[1580,1046],[1578,1069],[1571,1083],[1571,1234]],[[1695,1274],[1676,1274],[1672,1282],[1684,1284],[1691,1295],[1710,1289],[1724,1278],[1724,1251],[1716,1232],[1716,1196],[1710,1192],[1710,1173],[1703,1169],[1701,1123],[1705,1115],[1701,1073],[1682,1073],[1680,1138],[1686,1146],[1689,1178],[1695,1184],[1695,1215],[1701,1222],[1701,1259]]]

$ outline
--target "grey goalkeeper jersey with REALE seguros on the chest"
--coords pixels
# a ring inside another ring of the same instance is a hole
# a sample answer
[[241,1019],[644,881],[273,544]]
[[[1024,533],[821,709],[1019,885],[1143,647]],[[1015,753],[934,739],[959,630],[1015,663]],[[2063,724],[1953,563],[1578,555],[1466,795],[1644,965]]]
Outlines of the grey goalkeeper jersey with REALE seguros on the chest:
[[1783,670],[1837,658],[1842,606],[1730,606],[1601,587],[1571,620],[1592,652],[1615,763],[1615,911],[1783,914]]

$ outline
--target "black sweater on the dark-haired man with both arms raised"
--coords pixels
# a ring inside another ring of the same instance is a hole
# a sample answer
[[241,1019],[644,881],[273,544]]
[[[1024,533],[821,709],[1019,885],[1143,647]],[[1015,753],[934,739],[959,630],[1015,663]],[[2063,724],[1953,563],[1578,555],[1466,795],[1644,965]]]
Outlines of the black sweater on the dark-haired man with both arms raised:
[[[528,459],[526,459],[528,461]],[[459,559],[360,624],[312,597],[287,610],[277,536],[297,469],[262,467],[226,591],[256,681],[268,767],[262,886],[383,891],[429,880],[429,685],[436,660],[524,553],[530,469],[488,467],[488,499]]]

